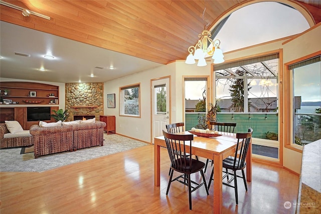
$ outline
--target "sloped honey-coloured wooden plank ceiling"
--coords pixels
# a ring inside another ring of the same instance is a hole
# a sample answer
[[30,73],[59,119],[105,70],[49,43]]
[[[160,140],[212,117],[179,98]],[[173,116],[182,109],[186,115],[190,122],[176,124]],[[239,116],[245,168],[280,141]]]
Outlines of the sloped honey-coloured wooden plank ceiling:
[[[196,43],[204,28],[204,7],[210,23],[207,29],[212,29],[226,11],[246,0],[5,2],[51,19],[23,17],[21,11],[1,5],[2,21],[167,64],[185,59],[188,47]],[[300,2],[312,7],[311,11],[320,9],[316,3],[320,1]]]

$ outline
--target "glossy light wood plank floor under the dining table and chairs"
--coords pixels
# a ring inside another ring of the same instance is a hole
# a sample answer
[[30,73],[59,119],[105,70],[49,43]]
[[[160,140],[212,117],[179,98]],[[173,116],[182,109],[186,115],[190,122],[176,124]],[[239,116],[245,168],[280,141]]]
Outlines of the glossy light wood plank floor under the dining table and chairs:
[[[160,188],[154,186],[152,145],[41,173],[2,172],[1,213],[212,213],[213,184],[209,196],[205,188],[192,193],[192,211],[181,183],[174,182],[166,195],[166,149],[161,157]],[[294,213],[283,203],[296,202],[298,176],[260,163],[253,163],[252,173],[247,192],[238,180],[238,205],[234,189],[223,186],[223,213]]]

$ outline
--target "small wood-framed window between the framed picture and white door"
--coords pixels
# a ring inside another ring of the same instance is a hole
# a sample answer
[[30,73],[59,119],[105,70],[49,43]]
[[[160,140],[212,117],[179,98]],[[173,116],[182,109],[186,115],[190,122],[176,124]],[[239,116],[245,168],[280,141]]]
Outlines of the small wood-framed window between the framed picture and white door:
[[140,117],[140,83],[119,88],[120,116]]

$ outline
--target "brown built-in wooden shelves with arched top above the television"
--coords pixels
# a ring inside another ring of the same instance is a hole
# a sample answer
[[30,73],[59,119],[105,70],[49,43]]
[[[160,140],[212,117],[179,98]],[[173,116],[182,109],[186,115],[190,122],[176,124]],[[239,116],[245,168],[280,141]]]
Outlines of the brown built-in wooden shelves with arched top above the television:
[[[1,82],[1,98],[18,104],[58,104],[59,86],[38,82]],[[9,92],[5,95],[5,89]],[[51,102],[52,101],[52,102]],[[5,103],[4,103],[5,104]]]

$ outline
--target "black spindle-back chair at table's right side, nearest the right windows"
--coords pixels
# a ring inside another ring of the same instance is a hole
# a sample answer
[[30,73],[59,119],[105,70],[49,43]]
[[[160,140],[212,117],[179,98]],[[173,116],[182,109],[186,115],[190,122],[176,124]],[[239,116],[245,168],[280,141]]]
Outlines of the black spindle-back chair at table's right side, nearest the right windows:
[[[246,155],[251,142],[253,129],[249,128],[247,133],[236,133],[237,145],[235,155],[232,157],[227,157],[223,160],[223,168],[225,168],[225,173],[222,177],[223,184],[229,187],[233,187],[235,189],[235,200],[236,204],[238,204],[238,194],[237,194],[237,177],[243,178],[245,190],[247,191],[246,177],[244,174],[244,168],[246,167]],[[228,171],[232,170],[232,172]],[[236,174],[236,171],[241,170],[242,176]],[[232,175],[231,179],[229,179],[229,175]],[[227,181],[224,181],[224,178],[227,178]],[[211,182],[213,180],[213,171],[211,173],[211,178],[209,181],[208,189],[211,186]],[[234,180],[234,186],[230,183]]]

